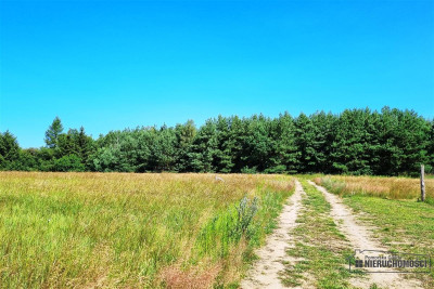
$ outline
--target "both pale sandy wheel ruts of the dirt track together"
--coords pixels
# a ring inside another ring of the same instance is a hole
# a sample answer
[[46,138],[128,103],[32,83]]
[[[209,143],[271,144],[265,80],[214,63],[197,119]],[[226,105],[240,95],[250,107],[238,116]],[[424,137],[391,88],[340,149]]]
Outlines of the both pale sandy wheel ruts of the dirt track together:
[[[342,202],[339,196],[327,192],[326,188],[311,181],[309,184],[321,192],[330,203],[330,215],[339,231],[348,239],[352,248],[387,251],[379,240],[372,237],[372,229],[357,221],[353,211]],[[282,285],[280,276],[286,267],[285,263],[293,265],[298,261],[290,257],[286,249],[293,247],[297,241],[291,232],[297,226],[296,220],[299,211],[303,210],[302,198],[304,197],[306,197],[306,193],[301,183],[295,181],[295,193],[290,197],[289,203],[284,206],[279,216],[278,227],[267,238],[266,246],[256,252],[259,259],[247,272],[247,277],[241,283],[241,288],[288,288]],[[419,280],[406,279],[403,274],[397,273],[355,275],[349,283],[355,288],[374,288],[373,285],[376,285],[378,288],[391,289],[422,288]],[[315,281],[309,280],[309,284],[315,284]],[[305,285],[307,286],[307,284]],[[305,285],[302,288],[306,288]]]

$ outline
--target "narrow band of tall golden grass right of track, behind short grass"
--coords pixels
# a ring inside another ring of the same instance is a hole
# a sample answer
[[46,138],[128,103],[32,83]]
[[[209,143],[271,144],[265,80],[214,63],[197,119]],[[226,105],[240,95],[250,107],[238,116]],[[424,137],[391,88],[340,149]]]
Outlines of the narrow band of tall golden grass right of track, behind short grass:
[[[391,199],[420,198],[420,180],[385,176],[318,176],[321,184],[339,195],[367,195]],[[425,179],[426,201],[434,205],[434,179]]]

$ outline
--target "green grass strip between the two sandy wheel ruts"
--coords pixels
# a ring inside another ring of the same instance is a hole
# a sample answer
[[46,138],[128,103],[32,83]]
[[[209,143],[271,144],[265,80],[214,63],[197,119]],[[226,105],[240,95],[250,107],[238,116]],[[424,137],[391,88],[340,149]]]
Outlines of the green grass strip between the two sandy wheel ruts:
[[299,258],[294,266],[288,267],[283,283],[301,286],[304,280],[315,280],[317,288],[350,288],[347,279],[347,258],[353,253],[345,237],[337,231],[330,216],[330,203],[320,192],[302,180],[307,194],[303,199],[304,210],[293,231],[298,241],[288,253]]

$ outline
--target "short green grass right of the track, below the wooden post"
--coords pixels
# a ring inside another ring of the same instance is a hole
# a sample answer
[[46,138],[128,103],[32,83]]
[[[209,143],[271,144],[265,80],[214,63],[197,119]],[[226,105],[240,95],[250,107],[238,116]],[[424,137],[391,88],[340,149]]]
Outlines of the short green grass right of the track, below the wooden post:
[[[342,195],[342,184],[317,183],[330,192]],[[365,212],[360,219],[374,228],[375,237],[391,250],[403,253],[434,253],[434,209],[432,205],[414,200],[395,200],[372,197],[369,194],[343,194],[344,202],[354,211]],[[434,288],[434,273],[413,274],[425,288]]]

